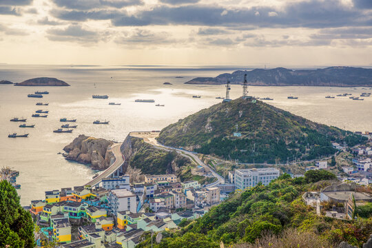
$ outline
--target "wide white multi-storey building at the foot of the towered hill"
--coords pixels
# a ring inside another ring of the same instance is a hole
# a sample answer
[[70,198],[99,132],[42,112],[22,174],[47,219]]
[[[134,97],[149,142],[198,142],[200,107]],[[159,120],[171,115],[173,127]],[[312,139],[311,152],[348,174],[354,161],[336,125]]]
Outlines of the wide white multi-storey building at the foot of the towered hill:
[[235,170],[235,187],[246,189],[255,187],[259,182],[268,185],[271,180],[279,177],[279,169],[276,168],[253,168]]

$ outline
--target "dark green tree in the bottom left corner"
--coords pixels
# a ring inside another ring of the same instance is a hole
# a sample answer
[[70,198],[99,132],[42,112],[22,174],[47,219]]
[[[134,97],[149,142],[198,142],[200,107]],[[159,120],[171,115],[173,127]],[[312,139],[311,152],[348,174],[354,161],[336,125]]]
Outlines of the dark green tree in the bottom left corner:
[[0,247],[34,247],[34,223],[19,204],[16,189],[6,180],[0,182]]

